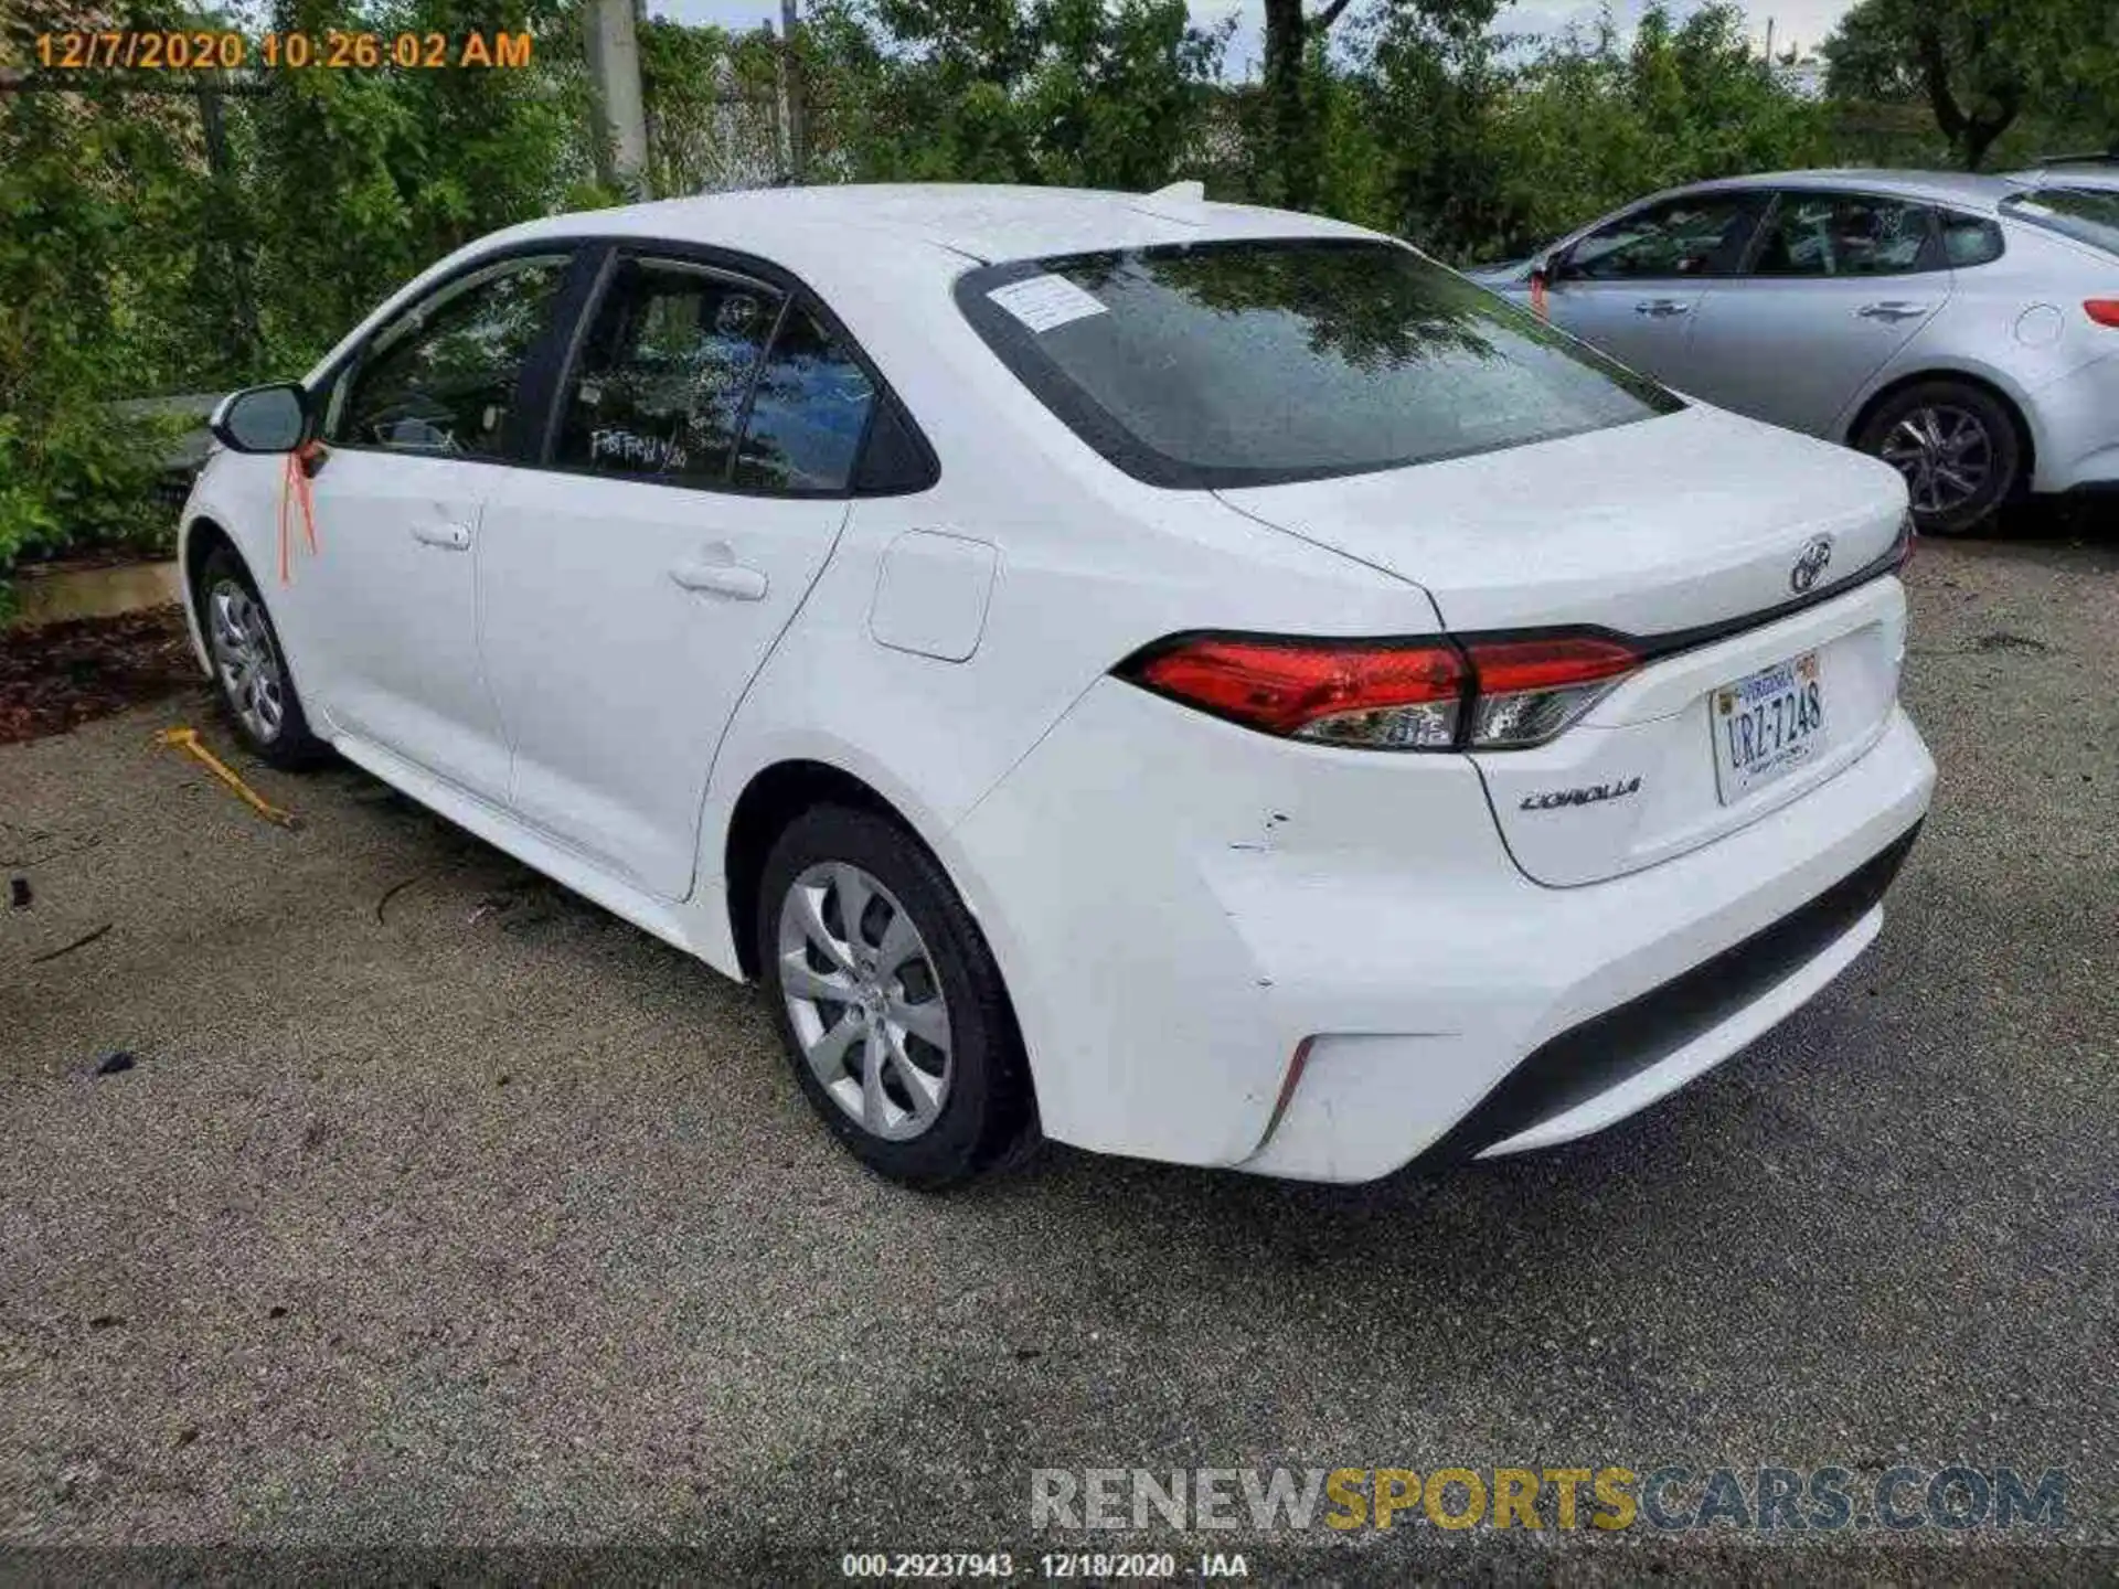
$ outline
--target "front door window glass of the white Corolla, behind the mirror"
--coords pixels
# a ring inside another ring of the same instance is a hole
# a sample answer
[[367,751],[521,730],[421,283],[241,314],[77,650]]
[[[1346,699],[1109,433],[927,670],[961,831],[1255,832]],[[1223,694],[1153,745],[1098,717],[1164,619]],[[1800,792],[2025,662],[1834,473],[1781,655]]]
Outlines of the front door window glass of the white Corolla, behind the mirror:
[[324,439],[352,447],[500,458],[530,347],[568,258],[511,258],[392,320],[339,383]]

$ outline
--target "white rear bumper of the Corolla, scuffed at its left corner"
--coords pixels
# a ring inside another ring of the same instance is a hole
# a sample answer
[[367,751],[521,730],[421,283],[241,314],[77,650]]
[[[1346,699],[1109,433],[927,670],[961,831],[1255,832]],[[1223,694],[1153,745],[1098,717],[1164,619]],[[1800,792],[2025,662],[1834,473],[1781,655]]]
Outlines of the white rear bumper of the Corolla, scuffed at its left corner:
[[[1890,862],[1865,869],[1933,784],[1892,708],[1858,761],[1742,831],[1547,888],[1468,758],[1290,748],[1104,680],[941,847],[1009,979],[1047,1136],[1358,1182],[1593,1131],[1755,1040],[1875,936]],[[1708,1000],[1742,962],[1742,994]],[[1659,994],[1689,1013],[1625,1015]],[[1549,1045],[1530,1078],[1617,1057],[1600,1087],[1496,1093]]]

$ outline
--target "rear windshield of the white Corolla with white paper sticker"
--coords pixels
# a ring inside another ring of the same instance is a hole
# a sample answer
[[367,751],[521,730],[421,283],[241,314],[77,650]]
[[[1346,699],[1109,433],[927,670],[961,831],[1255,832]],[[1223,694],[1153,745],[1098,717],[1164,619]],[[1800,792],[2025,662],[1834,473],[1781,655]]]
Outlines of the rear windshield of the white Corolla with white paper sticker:
[[992,265],[966,273],[956,301],[1045,407],[1153,485],[1360,475],[1685,407],[1384,242]]

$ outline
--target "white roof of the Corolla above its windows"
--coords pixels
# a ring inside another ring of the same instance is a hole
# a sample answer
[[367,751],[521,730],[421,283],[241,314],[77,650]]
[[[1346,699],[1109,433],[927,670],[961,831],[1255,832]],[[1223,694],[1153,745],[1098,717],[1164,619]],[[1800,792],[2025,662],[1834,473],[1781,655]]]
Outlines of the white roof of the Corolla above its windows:
[[[850,248],[898,246],[962,269],[966,261],[1000,263],[1223,237],[1373,235],[1320,216],[1208,203],[1195,195],[1193,184],[1159,193],[977,182],[748,189],[551,216],[487,242],[581,235],[697,242],[761,254],[799,273],[807,265],[843,258]],[[858,242],[850,242],[848,233],[860,233]]]

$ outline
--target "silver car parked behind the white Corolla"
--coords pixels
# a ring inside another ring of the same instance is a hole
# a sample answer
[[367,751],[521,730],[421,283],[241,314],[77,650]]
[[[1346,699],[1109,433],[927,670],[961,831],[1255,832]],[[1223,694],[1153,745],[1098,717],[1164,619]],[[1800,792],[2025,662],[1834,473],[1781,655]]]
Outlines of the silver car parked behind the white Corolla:
[[1708,403],[1884,458],[1928,534],[2024,492],[2119,487],[2119,193],[1746,176],[1471,275]]

